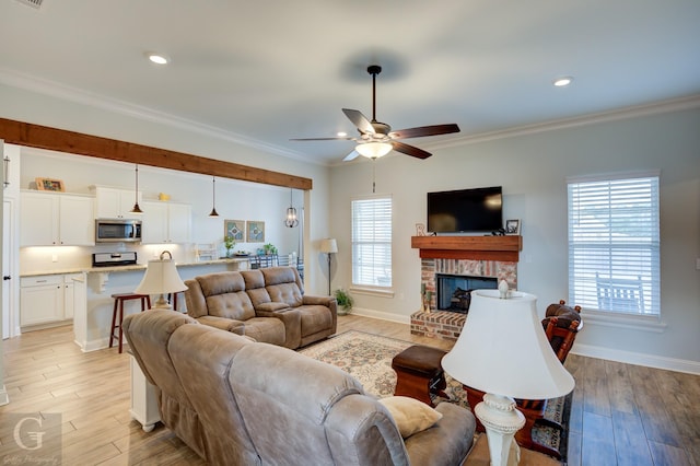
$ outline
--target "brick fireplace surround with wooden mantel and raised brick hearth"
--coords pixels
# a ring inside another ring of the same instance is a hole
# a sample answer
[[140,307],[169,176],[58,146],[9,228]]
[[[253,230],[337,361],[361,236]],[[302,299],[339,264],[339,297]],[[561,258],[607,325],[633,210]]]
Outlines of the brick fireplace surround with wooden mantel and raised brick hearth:
[[[420,249],[421,283],[432,292],[435,310],[436,273],[492,277],[517,289],[521,236],[413,236],[411,247]],[[456,341],[467,318],[450,311],[418,311],[410,316],[411,334]]]

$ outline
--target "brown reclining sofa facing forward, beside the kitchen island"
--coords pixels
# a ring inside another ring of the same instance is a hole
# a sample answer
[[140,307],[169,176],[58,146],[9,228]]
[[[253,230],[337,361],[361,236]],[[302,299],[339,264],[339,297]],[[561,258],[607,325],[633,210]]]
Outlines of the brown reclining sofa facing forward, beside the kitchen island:
[[187,314],[200,324],[290,349],[336,333],[336,299],[304,294],[293,267],[209,273],[185,284]]

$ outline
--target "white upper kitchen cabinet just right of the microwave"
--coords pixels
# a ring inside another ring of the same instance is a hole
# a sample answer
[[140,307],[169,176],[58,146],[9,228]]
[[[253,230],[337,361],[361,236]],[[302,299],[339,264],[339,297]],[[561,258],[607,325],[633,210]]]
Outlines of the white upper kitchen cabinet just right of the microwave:
[[144,244],[189,243],[191,206],[178,202],[144,201],[141,209]]

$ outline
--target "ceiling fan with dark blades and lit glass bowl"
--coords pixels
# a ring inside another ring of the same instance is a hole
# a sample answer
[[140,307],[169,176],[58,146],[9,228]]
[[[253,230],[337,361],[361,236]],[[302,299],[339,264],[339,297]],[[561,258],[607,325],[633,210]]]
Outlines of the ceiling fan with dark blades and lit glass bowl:
[[350,152],[343,161],[350,161],[358,155],[366,156],[368,159],[378,159],[386,155],[392,149],[402,152],[405,154],[418,158],[428,159],[432,154],[415,145],[409,145],[398,141],[398,139],[407,138],[420,138],[424,136],[438,136],[448,135],[451,132],[459,132],[459,127],[456,124],[447,125],[432,125],[432,126],[419,126],[416,128],[399,129],[392,131],[392,127],[385,123],[376,120],[376,75],[382,72],[382,67],[378,65],[371,65],[368,67],[368,73],[372,74],[372,120],[369,120],[359,110],[350,108],[343,108],[342,113],[346,114],[348,119],[358,127],[360,136],[357,138],[350,137],[337,137],[337,138],[304,138],[304,139],[291,139],[292,141],[328,141],[328,140],[348,140],[357,141],[358,145],[352,152]]

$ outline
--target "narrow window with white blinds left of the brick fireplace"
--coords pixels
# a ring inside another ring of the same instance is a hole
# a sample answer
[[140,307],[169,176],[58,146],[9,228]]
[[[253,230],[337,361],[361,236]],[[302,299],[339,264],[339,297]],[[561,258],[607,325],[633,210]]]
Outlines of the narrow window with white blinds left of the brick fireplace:
[[392,197],[352,200],[352,284],[392,287]]

